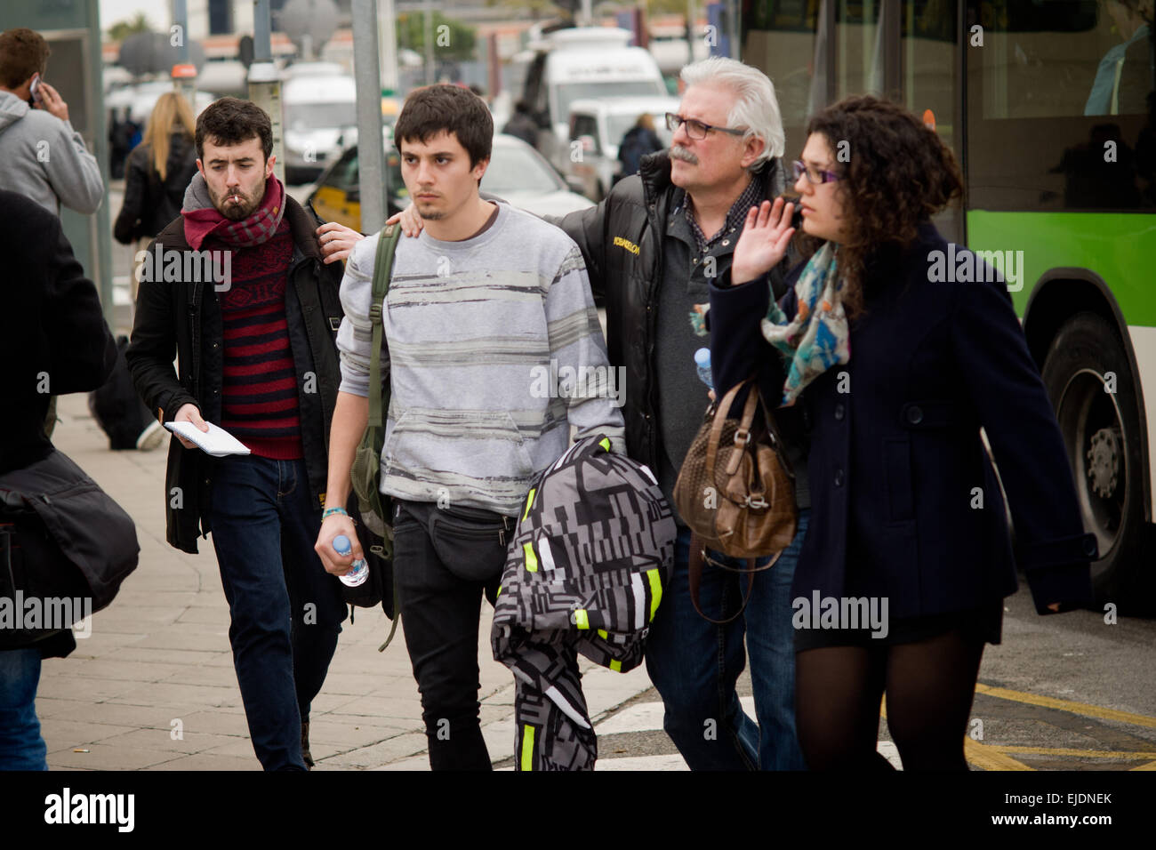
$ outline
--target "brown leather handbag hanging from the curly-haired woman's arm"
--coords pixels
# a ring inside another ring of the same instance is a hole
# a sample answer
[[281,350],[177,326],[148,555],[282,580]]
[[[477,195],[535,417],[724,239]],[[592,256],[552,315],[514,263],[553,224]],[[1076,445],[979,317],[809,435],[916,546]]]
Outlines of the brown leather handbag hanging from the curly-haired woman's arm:
[[[747,402],[739,420],[728,413],[742,387],[749,386]],[[762,406],[763,421],[755,426],[755,411]],[[762,400],[755,377],[736,384],[706,409],[698,434],[682,461],[674,485],[674,503],[691,530],[690,597],[695,609],[703,562],[734,569],[709,557],[706,549],[732,557],[747,559],[747,568],[735,570],[754,574],[770,569],[795,535],[799,510],[794,498],[794,473],[786,459],[783,441],[766,404]],[[770,563],[755,566],[756,557],[775,555]],[[748,575],[743,608],[750,597],[754,576]]]

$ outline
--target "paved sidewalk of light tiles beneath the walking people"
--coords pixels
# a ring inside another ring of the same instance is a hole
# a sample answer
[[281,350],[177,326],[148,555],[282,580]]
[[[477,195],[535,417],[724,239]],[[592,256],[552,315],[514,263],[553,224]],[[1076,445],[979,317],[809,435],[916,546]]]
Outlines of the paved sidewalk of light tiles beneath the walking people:
[[[37,696],[53,770],[257,770],[229,650],[229,609],[213,541],[188,555],[164,539],[166,446],[113,452],[84,394],[59,400],[54,443],[136,522],[140,566],[91,636],[44,664]],[[492,609],[479,630],[481,719],[490,757],[513,754],[513,683],[490,657]],[[347,620],[320,695],[310,744],[317,769],[427,770],[421,704],[399,628],[380,608]],[[651,687],[644,667],[615,673],[583,659],[595,722]],[[587,672],[588,671],[588,672]]]

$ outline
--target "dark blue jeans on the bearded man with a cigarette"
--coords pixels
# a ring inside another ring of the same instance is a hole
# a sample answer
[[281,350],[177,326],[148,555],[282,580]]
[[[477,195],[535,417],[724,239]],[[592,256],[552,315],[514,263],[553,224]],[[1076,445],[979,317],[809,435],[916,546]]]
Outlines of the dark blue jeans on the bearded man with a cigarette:
[[313,552],[321,511],[305,461],[222,458],[209,516],[253,749],[266,770],[304,770],[301,724],[346,618],[339,579]]

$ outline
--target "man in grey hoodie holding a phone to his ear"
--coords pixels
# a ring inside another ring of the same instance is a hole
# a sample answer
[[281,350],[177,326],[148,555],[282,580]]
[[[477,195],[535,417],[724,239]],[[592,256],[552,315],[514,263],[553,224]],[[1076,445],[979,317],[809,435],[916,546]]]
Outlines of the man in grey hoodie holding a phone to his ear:
[[101,167],[68,121],[68,104],[44,81],[49,43],[27,28],[0,34],[0,189],[53,215],[64,205],[95,213]]

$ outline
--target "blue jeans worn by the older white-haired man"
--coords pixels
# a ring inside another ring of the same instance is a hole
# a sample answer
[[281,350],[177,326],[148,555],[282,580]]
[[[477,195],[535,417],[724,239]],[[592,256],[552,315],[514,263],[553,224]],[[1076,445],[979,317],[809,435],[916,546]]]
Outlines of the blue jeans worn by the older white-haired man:
[[[770,570],[755,576],[747,609],[734,621],[707,622],[690,601],[690,531],[680,527],[674,576],[646,641],[646,672],[666,708],[662,727],[691,770],[806,770],[794,722],[794,629],[791,582],[810,511]],[[711,557],[741,566],[734,559]],[[762,561],[763,563],[765,561]],[[716,620],[742,604],[747,577],[703,568],[699,605]],[[756,724],[742,710],[735,682],[750,655]]]

